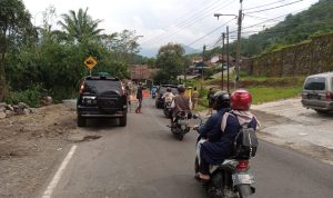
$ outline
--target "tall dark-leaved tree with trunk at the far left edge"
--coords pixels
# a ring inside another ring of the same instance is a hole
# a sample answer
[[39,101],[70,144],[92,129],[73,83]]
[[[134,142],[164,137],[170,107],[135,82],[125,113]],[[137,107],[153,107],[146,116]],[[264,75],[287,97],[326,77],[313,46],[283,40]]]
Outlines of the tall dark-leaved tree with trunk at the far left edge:
[[[6,53],[11,43],[28,41],[27,31],[32,31],[30,13],[21,0],[0,1],[0,100],[8,95],[6,79]],[[30,33],[31,34],[31,33]]]

